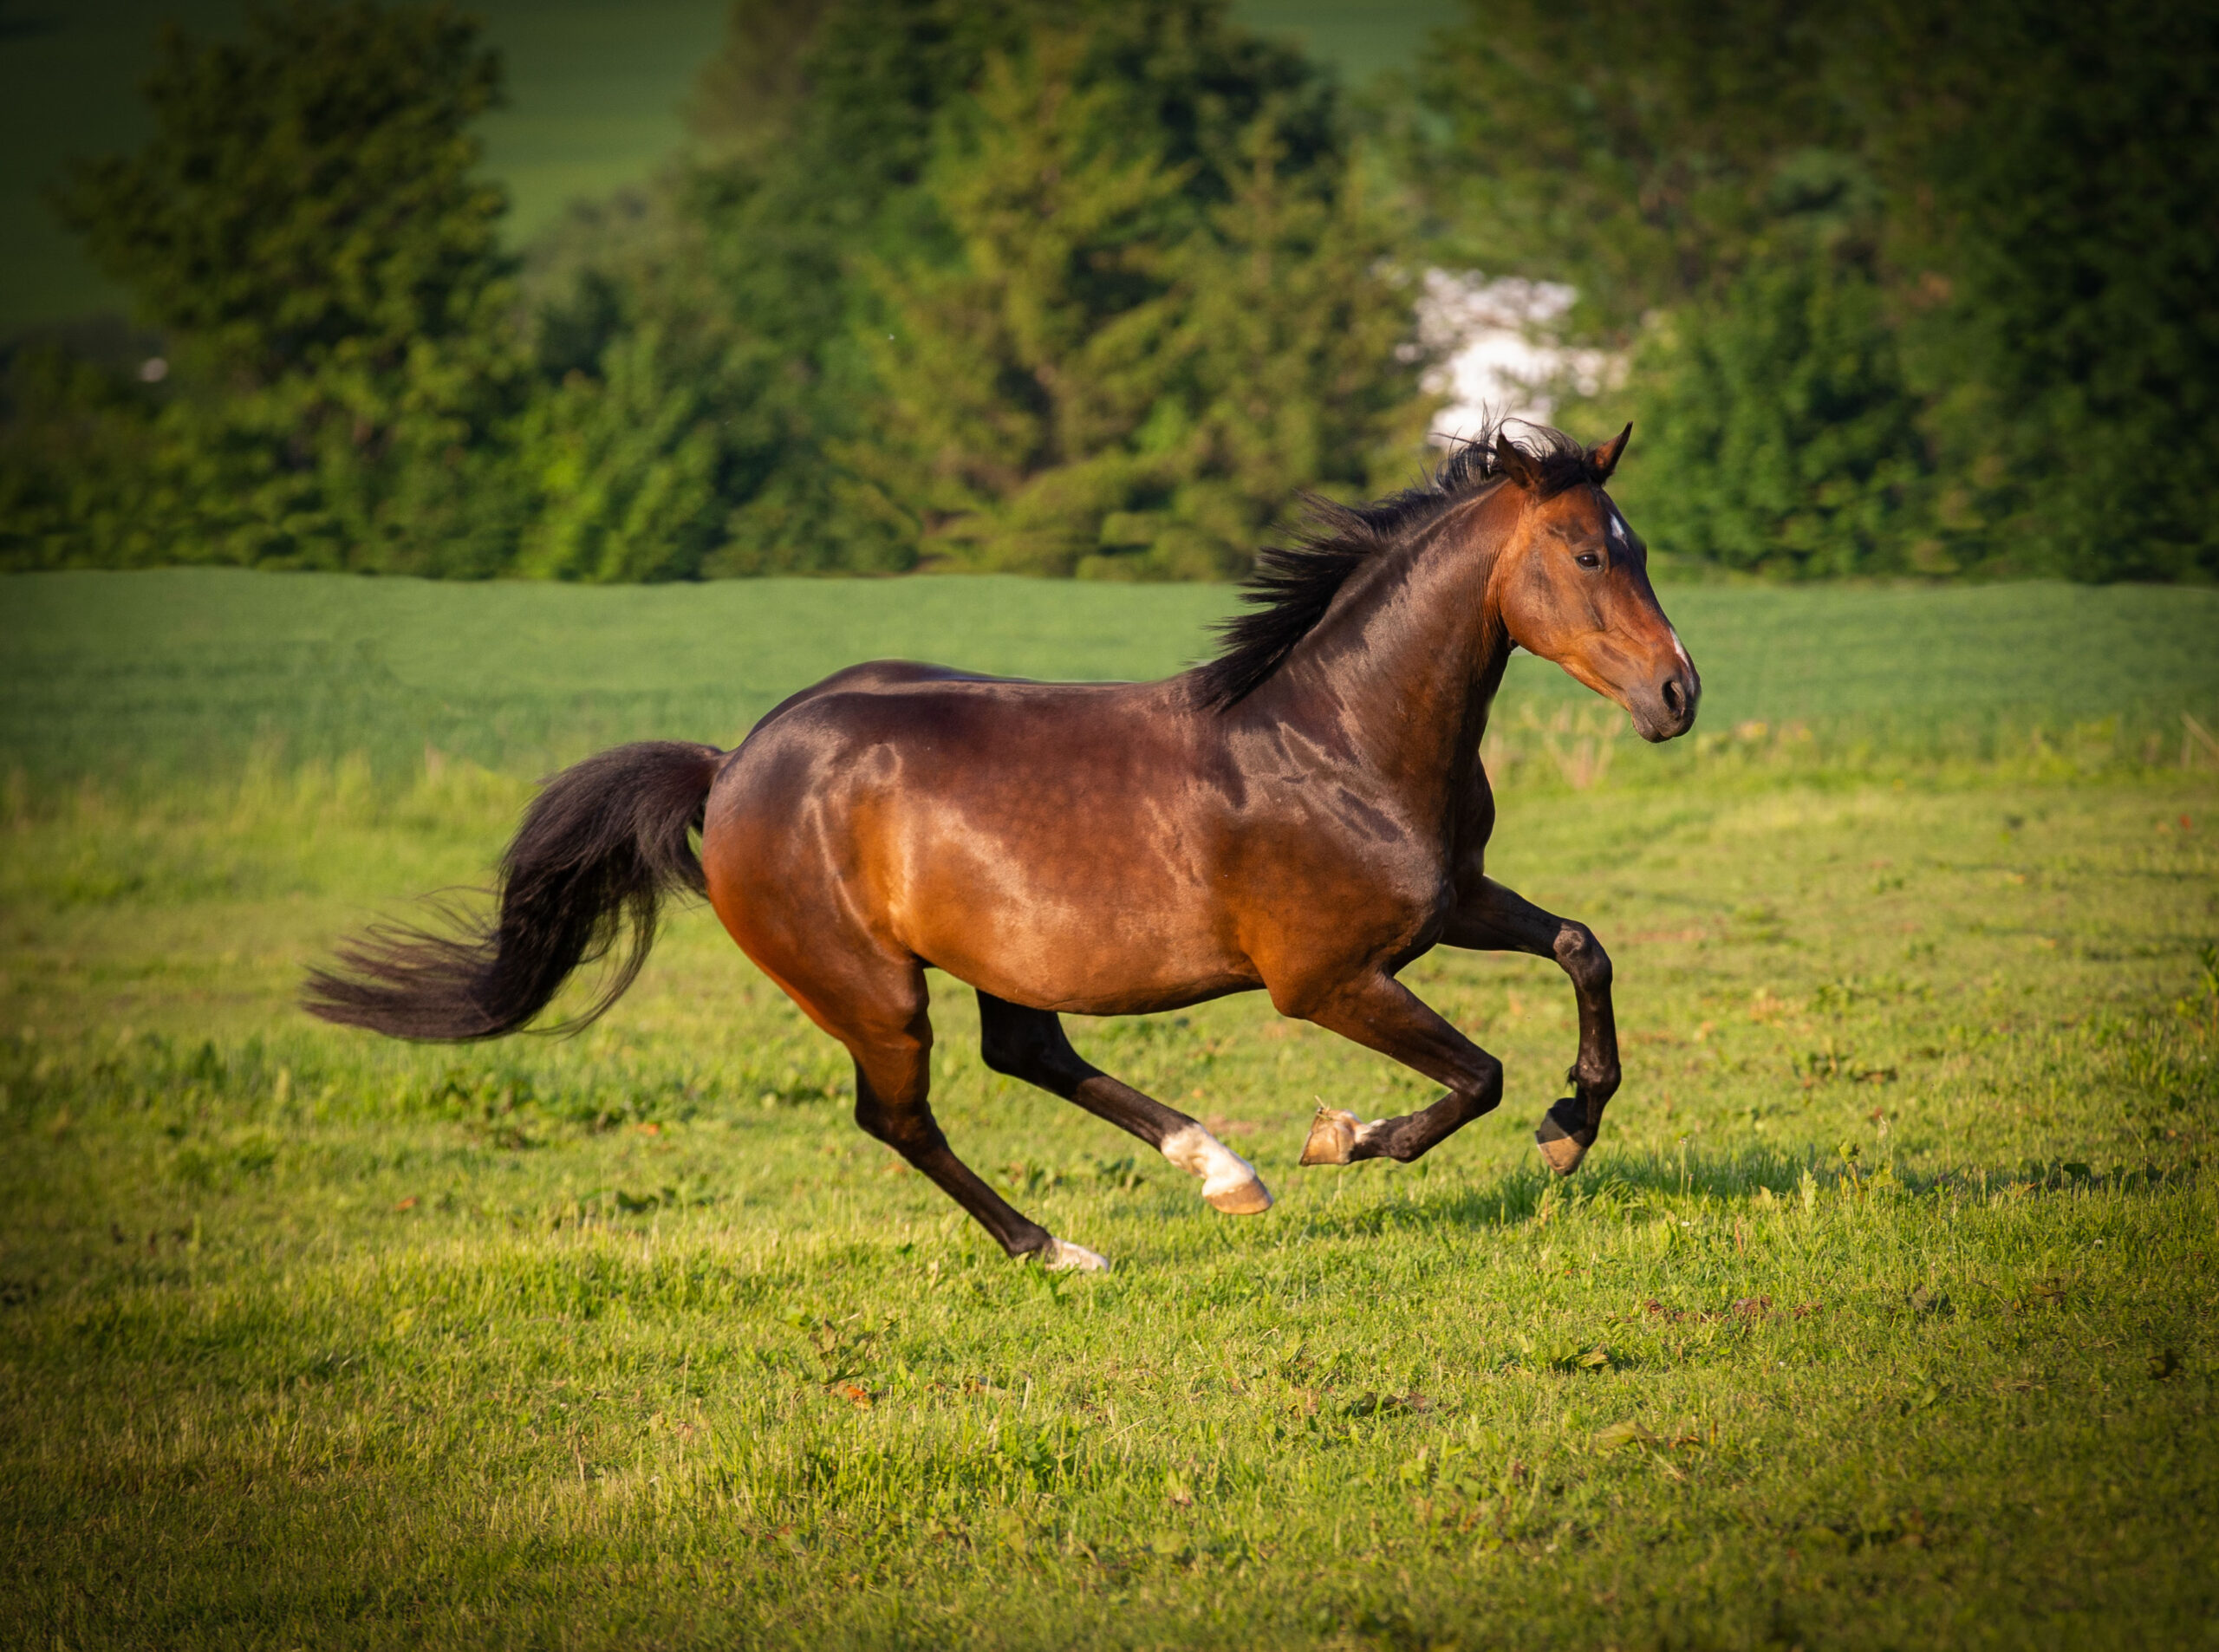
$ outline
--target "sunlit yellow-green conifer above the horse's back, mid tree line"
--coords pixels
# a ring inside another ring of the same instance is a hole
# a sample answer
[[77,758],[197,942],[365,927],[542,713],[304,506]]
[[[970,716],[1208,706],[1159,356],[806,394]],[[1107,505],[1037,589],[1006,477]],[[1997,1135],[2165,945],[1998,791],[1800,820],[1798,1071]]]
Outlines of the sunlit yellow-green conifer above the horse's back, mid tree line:
[[1083,55],[1083,35],[1045,35],[987,64],[930,177],[954,262],[874,271],[881,435],[850,463],[883,466],[890,508],[972,565],[1067,574],[1152,481],[1127,443],[1176,368],[1163,239],[1183,180],[1114,89],[1074,84]]

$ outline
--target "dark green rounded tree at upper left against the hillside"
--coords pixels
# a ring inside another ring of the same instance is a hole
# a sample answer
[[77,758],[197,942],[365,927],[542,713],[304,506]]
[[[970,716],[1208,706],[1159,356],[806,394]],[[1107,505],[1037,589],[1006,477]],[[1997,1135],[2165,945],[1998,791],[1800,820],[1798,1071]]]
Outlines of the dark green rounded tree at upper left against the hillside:
[[506,561],[521,501],[493,437],[521,357],[468,133],[497,95],[444,4],[288,0],[237,42],[169,29],[153,137],[71,171],[58,208],[169,337],[146,508],[189,554]]

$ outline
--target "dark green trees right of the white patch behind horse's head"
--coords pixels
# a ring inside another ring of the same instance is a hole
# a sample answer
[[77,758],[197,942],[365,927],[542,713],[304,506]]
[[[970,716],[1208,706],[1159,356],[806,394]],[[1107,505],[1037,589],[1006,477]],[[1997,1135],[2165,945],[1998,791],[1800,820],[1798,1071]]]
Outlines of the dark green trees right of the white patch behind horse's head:
[[2219,574],[2208,7],[1489,4],[1422,91],[1449,251],[1633,348],[1686,550]]

